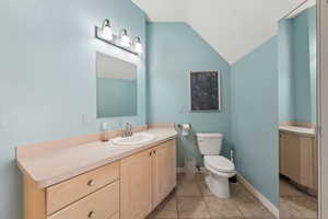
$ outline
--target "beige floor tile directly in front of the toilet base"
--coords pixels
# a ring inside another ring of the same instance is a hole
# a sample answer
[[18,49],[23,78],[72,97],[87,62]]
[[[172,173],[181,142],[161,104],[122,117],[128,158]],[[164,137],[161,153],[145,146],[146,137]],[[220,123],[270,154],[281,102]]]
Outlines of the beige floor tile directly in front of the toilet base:
[[243,217],[236,203],[232,199],[220,199],[214,196],[206,196],[204,200],[212,218]]

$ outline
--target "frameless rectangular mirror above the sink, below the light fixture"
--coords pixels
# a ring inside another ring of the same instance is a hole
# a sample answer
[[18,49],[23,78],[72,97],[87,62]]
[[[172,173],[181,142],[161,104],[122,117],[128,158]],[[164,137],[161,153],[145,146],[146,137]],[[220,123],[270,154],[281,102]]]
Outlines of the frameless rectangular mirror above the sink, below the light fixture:
[[97,118],[138,114],[137,65],[96,53]]

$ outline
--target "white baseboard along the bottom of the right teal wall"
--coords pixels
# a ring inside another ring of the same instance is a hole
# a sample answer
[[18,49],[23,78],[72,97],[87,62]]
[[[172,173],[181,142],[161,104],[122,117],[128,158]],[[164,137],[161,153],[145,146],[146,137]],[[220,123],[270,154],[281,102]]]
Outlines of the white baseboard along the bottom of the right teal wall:
[[266,196],[258,192],[241,174],[237,174],[239,182],[276,217],[279,218],[279,208],[277,208]]

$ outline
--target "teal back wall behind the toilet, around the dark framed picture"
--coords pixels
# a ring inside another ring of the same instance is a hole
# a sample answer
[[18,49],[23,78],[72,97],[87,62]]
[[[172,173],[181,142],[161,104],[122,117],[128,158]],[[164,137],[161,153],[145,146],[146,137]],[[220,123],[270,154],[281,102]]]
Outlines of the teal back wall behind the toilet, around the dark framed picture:
[[[148,96],[150,123],[190,123],[192,130],[230,134],[230,65],[185,23],[148,24]],[[223,111],[190,113],[188,72],[221,70]],[[184,158],[195,157],[202,165],[195,136],[178,139],[178,166]]]

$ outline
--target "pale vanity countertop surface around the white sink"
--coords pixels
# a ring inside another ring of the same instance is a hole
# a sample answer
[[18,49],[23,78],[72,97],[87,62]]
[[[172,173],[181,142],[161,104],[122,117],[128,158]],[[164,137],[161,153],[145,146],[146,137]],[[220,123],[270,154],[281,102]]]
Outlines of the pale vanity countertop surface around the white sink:
[[58,150],[17,158],[17,165],[38,187],[45,188],[177,136],[174,128],[153,128],[144,132],[155,138],[150,142],[134,146],[116,146],[110,141],[95,141],[68,148],[59,147]]

